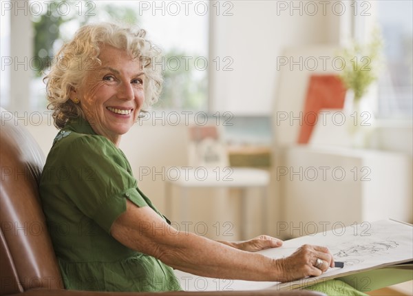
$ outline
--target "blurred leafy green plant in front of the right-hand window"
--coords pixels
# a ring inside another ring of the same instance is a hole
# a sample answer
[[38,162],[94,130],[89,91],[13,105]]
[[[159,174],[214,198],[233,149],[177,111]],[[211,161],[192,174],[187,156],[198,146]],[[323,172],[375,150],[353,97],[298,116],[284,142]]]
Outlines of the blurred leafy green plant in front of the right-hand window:
[[343,70],[339,77],[347,89],[354,92],[354,102],[368,91],[368,87],[379,75],[382,63],[383,39],[379,29],[374,29],[368,43],[352,42],[337,55],[343,59]]

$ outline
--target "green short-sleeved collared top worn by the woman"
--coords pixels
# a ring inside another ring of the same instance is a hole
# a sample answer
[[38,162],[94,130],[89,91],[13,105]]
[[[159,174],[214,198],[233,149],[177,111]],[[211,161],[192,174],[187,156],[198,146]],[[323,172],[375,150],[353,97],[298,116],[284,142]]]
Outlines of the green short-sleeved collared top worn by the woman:
[[112,224],[126,211],[127,199],[161,214],[138,189],[123,152],[96,135],[87,121],[71,120],[57,134],[41,176],[40,195],[65,288],[182,290],[171,267],[110,235]]

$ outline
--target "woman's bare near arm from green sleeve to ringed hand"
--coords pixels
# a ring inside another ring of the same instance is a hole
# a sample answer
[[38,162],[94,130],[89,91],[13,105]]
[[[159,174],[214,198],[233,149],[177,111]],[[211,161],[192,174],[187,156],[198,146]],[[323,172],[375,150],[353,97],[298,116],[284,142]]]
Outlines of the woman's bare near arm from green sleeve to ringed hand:
[[[321,246],[305,245],[290,257],[278,260],[241,251],[206,237],[177,231],[150,207],[137,207],[129,200],[127,211],[114,222],[111,234],[130,249],[205,277],[288,282],[321,275],[334,264],[328,249]],[[321,269],[313,266],[317,258],[324,260]]]

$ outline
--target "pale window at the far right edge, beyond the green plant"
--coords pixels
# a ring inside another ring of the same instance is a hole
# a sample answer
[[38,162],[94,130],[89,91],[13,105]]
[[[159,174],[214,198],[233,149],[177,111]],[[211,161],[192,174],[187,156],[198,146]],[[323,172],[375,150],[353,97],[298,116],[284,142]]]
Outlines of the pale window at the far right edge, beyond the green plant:
[[378,83],[379,116],[412,118],[412,1],[373,1],[383,34],[385,65]]

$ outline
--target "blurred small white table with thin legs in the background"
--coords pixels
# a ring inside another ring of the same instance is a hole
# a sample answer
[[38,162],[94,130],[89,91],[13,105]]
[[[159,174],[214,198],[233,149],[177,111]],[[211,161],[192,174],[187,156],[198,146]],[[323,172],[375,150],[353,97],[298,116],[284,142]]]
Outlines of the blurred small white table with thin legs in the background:
[[171,215],[171,189],[172,186],[179,187],[181,198],[181,217],[187,219],[188,209],[188,189],[190,188],[236,188],[241,189],[241,207],[240,215],[243,225],[241,227],[241,239],[246,239],[244,222],[248,217],[246,211],[246,191],[250,188],[261,189],[262,205],[262,231],[266,233],[266,190],[270,181],[268,171],[264,169],[224,167],[224,168],[206,168],[206,167],[173,167],[168,169],[169,174],[166,182],[166,206],[167,214]]

